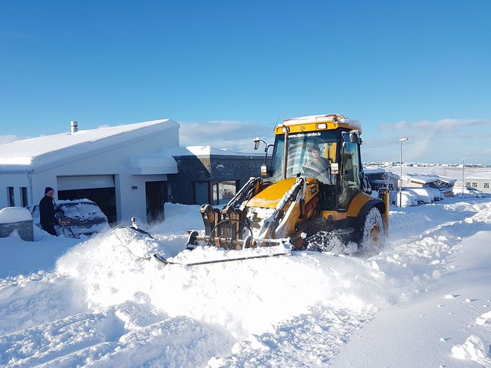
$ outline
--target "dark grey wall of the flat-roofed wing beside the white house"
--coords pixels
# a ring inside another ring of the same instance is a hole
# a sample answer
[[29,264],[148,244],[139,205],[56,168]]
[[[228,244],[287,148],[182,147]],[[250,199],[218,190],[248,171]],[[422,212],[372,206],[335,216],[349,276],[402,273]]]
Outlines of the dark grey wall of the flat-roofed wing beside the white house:
[[211,155],[176,157],[178,173],[168,175],[168,191],[173,203],[194,204],[193,182],[239,180],[244,185],[250,177],[260,175],[264,158],[258,156]]

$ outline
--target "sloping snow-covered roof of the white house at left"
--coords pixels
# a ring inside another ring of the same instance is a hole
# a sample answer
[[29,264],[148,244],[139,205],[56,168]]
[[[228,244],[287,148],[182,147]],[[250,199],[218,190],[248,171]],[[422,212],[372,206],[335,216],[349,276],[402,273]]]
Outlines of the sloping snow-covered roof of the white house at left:
[[32,166],[49,164],[62,157],[83,155],[176,127],[179,127],[179,123],[171,119],[153,120],[0,144],[0,171],[12,168],[28,169]]

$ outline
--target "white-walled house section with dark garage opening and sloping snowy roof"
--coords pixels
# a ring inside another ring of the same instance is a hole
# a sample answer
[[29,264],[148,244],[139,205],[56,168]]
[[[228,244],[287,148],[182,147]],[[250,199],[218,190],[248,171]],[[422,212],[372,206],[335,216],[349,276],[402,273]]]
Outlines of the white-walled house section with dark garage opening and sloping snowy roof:
[[0,208],[38,204],[51,186],[56,200],[95,199],[110,222],[158,220],[177,163],[145,155],[178,146],[179,124],[169,119],[0,144]]

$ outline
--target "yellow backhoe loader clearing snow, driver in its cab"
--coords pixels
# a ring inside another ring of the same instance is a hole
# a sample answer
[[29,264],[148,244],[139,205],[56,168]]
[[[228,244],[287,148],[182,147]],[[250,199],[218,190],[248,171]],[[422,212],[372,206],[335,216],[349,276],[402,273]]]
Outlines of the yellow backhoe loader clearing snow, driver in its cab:
[[242,250],[289,239],[297,250],[330,250],[337,239],[363,252],[382,243],[388,193],[368,194],[359,122],[340,114],[304,116],[274,131],[274,144],[254,140],[255,149],[266,144],[261,176],[251,177],[221,210],[202,205],[205,235],[189,232],[191,248]]

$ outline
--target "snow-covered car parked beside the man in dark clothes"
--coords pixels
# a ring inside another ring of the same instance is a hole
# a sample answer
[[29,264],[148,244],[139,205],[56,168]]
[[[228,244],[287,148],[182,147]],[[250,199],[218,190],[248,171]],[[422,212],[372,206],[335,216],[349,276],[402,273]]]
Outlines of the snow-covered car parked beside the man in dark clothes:
[[[26,206],[30,210],[34,224],[40,226],[39,205]],[[95,202],[90,199],[59,201],[55,208],[58,224],[54,226],[58,235],[65,237],[89,236],[109,229],[107,216]]]

